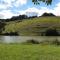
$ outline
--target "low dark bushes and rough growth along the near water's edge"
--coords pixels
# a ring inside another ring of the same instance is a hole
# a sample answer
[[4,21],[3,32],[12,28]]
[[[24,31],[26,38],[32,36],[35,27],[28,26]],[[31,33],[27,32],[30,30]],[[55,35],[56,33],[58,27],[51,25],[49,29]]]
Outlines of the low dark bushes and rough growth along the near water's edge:
[[23,44],[42,44],[42,45],[60,45],[60,41],[58,41],[58,39],[54,40],[54,41],[49,41],[49,40],[45,40],[45,41],[37,41],[37,40],[27,40],[26,42],[23,42]]

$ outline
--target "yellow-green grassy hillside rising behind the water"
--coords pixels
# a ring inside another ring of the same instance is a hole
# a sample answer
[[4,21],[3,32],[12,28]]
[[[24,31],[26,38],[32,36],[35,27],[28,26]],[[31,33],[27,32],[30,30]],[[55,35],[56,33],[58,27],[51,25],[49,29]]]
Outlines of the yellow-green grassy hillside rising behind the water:
[[8,22],[4,32],[17,31],[20,35],[39,35],[48,28],[60,30],[60,17],[40,17],[25,19],[22,22]]

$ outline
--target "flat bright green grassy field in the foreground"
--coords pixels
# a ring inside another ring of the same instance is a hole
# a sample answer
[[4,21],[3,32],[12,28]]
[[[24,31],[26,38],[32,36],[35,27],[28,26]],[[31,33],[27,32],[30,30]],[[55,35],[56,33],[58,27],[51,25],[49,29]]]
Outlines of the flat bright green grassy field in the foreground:
[[60,46],[0,44],[0,60],[60,60]]

